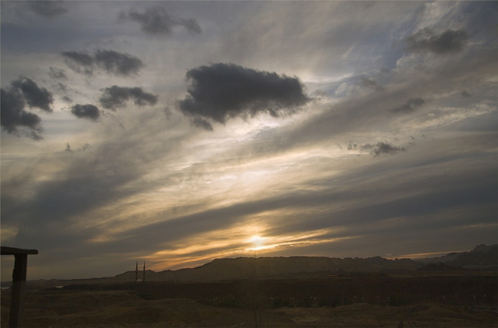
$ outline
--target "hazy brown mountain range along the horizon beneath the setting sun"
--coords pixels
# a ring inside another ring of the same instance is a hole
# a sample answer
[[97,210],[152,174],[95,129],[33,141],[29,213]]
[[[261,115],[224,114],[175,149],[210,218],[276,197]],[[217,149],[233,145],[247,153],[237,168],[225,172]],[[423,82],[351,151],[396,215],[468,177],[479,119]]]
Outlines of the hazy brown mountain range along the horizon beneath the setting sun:
[[[145,271],[147,281],[213,281],[226,279],[286,278],[296,276],[359,273],[359,272],[409,272],[409,271],[457,271],[469,269],[494,269],[498,267],[498,244],[479,245],[473,250],[449,253],[441,257],[423,259],[330,258],[318,256],[290,257],[238,257],[215,259],[202,266],[179,270]],[[142,278],[142,271],[138,277]],[[118,283],[135,280],[135,271],[127,271],[115,277],[49,280],[63,284]]]

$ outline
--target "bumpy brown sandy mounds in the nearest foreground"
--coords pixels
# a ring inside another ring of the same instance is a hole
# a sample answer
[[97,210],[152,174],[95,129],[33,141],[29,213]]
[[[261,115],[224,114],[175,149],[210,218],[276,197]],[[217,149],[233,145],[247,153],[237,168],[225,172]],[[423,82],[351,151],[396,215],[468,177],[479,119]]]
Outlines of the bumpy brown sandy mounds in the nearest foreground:
[[[8,323],[2,293],[1,327]],[[189,299],[144,300],[127,291],[43,292],[26,296],[24,327],[254,327],[254,312]],[[386,307],[278,308],[256,313],[262,327],[497,327],[497,313],[434,301]]]

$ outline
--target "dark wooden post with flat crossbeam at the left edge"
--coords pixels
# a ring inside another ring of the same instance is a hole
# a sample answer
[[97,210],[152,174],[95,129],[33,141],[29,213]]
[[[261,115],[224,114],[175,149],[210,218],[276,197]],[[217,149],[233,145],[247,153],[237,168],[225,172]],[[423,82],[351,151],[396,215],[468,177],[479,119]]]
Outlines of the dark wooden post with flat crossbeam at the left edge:
[[8,327],[20,327],[24,312],[24,296],[26,294],[26,272],[29,254],[38,254],[36,249],[22,249],[0,246],[0,255],[14,255],[12,271],[12,287],[10,297],[10,316]]

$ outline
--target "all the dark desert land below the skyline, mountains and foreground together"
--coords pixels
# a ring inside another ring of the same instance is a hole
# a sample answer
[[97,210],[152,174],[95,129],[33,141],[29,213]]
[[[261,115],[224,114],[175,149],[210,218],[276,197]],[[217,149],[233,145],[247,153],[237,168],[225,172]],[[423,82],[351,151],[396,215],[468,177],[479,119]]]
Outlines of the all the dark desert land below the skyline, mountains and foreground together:
[[[215,259],[27,282],[25,327],[498,327],[498,245],[413,261]],[[145,280],[142,281],[144,278]],[[2,282],[0,326],[11,282]]]

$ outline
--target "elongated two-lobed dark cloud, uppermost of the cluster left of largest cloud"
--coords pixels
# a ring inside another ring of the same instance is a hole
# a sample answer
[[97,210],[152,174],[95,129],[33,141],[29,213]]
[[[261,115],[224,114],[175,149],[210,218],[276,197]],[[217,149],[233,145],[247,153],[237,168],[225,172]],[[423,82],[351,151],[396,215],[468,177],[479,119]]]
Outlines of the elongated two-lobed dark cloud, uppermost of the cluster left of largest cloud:
[[65,62],[73,71],[91,76],[94,70],[102,69],[109,74],[129,76],[138,74],[143,63],[140,59],[126,53],[114,50],[98,50],[90,55],[85,52],[62,52]]

